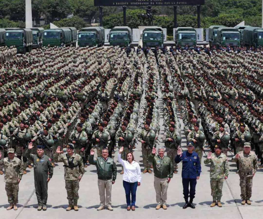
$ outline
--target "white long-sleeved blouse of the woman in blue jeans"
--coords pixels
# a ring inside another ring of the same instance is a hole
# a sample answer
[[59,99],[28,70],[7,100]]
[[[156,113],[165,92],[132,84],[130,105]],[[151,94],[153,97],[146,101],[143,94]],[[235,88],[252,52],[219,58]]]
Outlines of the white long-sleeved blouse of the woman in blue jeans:
[[140,165],[133,161],[131,164],[127,160],[123,160],[118,154],[118,161],[123,166],[124,174],[123,180],[126,182],[141,182],[141,168]]

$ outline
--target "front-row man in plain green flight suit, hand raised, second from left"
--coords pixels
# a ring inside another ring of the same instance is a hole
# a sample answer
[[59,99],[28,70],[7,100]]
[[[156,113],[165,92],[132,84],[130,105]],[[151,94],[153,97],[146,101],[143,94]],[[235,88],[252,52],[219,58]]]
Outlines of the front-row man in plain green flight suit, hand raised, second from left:
[[53,176],[53,166],[51,164],[51,159],[44,155],[44,146],[37,146],[37,154],[30,154],[33,148],[33,143],[30,142],[26,150],[27,159],[33,160],[34,164],[34,181],[35,189],[38,201],[38,211],[47,210],[47,199],[48,199],[48,182]]

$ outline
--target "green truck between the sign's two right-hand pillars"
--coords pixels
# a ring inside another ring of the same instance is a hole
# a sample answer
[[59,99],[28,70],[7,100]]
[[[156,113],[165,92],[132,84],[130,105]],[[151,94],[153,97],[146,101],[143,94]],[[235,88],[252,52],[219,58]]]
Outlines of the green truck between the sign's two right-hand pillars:
[[175,44],[176,46],[193,47],[196,45],[196,30],[193,27],[175,28]]

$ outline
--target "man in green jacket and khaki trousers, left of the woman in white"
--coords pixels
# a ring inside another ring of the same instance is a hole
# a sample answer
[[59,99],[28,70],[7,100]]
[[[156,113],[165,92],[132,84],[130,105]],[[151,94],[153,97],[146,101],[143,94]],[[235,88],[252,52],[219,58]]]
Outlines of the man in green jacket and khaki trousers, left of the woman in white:
[[[102,156],[94,159],[95,151],[90,150],[89,163],[96,165],[98,174],[98,187],[100,195],[100,206],[97,211],[105,208],[105,201],[107,209],[113,211],[112,208],[112,184],[115,183],[117,176],[117,167],[112,158],[109,157],[109,151],[107,149],[102,150]],[[106,190],[106,199],[105,199]]]

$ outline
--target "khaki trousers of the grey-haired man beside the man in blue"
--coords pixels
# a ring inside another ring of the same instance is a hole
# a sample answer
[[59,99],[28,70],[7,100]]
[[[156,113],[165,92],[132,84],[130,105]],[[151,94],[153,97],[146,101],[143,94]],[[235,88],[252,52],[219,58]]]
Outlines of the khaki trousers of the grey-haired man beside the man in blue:
[[166,205],[168,190],[167,178],[160,179],[154,176],[154,189],[156,192],[157,205]]

